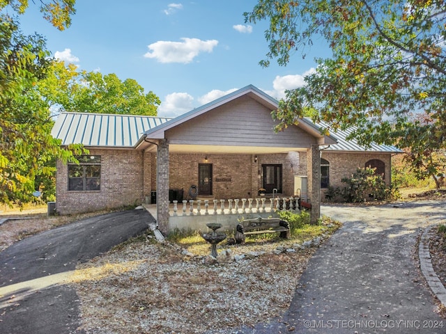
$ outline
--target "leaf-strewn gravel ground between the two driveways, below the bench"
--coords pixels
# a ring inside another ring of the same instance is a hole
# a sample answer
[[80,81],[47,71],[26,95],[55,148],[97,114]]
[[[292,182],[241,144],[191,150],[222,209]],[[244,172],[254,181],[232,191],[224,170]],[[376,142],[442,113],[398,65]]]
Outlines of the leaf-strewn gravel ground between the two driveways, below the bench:
[[255,252],[219,249],[214,263],[152,240],[78,268],[72,279],[86,333],[218,333],[270,321],[289,308],[300,275],[323,242],[266,244]]

